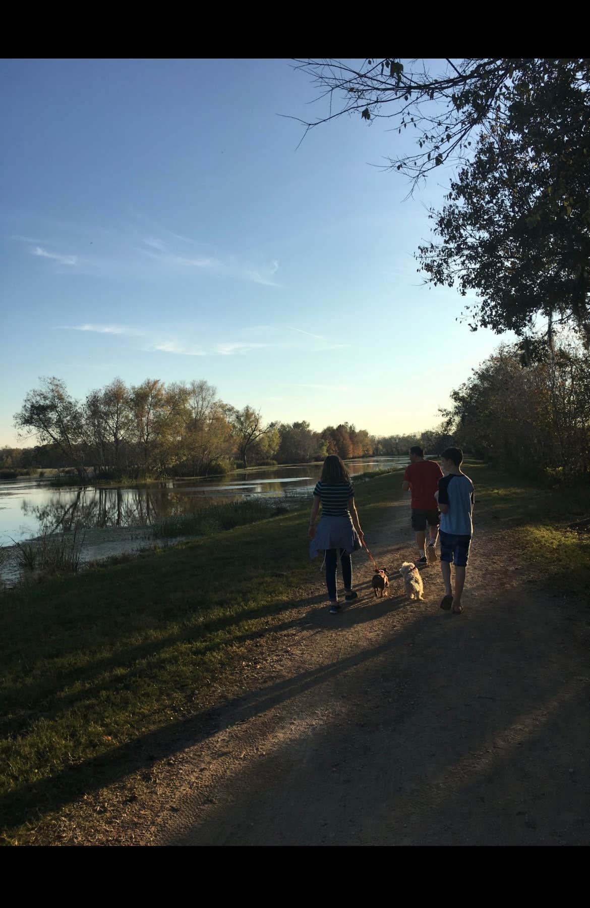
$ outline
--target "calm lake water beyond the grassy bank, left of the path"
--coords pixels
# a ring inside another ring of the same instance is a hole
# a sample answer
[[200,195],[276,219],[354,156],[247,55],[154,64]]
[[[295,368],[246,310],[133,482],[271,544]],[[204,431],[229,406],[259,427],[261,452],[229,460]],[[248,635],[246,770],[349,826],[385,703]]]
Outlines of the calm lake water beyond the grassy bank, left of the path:
[[[405,466],[408,458],[350,461],[351,475]],[[77,524],[91,528],[133,528],[191,514],[212,502],[256,497],[309,496],[321,464],[231,473],[216,479],[171,479],[138,489],[52,489],[32,477],[0,481],[0,545],[38,536],[42,529],[67,531]]]

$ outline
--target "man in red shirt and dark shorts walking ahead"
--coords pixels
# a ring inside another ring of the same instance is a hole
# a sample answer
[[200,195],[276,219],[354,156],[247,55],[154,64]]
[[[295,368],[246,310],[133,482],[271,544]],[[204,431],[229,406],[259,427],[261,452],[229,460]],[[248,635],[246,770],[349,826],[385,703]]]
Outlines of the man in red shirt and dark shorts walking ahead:
[[437,499],[434,497],[438,491],[438,479],[443,475],[442,470],[435,460],[425,460],[424,450],[418,445],[409,449],[410,464],[404,473],[401,488],[412,492],[412,529],[416,533],[419,559],[418,568],[428,564],[426,557],[426,525],[428,523],[428,546],[433,551],[437,545],[438,511]]

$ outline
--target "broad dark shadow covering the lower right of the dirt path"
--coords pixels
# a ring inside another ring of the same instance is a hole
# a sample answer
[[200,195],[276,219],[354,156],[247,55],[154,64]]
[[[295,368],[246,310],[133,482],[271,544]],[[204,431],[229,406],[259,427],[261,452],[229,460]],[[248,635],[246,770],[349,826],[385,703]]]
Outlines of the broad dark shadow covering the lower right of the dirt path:
[[433,610],[233,704],[227,727],[288,698],[325,721],[279,744],[263,730],[264,755],[189,797],[162,840],[590,844],[585,646],[564,617],[518,590],[461,617]]

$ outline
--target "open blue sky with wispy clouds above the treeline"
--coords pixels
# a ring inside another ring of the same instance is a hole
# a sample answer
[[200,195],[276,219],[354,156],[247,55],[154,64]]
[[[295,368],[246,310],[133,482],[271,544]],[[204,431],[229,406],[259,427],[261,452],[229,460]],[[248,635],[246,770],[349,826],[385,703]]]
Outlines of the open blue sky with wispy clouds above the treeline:
[[413,259],[450,173],[404,201],[381,165],[409,134],[359,115],[298,148],[280,114],[325,105],[289,60],[3,60],[0,84],[0,447],[33,443],[14,414],[46,375],[428,429],[497,347]]

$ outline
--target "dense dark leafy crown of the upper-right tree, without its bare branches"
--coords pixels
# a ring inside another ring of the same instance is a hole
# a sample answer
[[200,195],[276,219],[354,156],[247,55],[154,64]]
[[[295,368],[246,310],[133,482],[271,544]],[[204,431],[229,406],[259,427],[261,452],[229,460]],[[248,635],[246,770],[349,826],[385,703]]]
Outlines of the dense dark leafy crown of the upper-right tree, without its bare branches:
[[[586,74],[590,70],[586,71]],[[564,62],[517,83],[506,116],[430,212],[438,241],[420,247],[428,281],[479,300],[470,327],[532,330],[545,317],[590,345],[590,104],[587,83]]]

